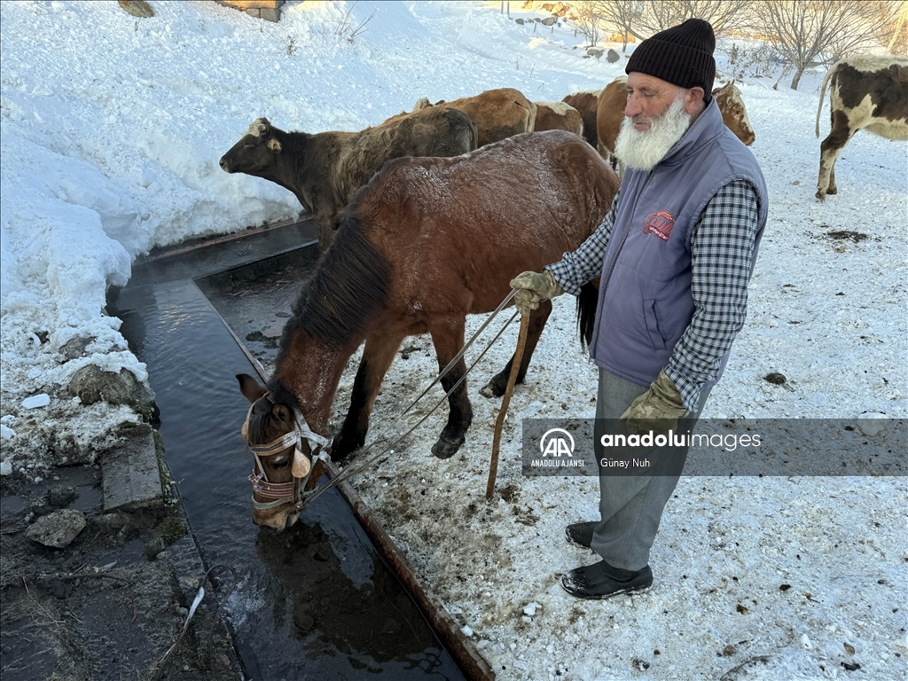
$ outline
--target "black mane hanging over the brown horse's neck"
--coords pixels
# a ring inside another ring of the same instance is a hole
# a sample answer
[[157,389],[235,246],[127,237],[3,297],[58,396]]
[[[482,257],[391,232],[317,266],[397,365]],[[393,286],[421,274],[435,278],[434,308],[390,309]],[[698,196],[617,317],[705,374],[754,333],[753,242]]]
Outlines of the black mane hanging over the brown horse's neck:
[[331,247],[293,303],[277,366],[289,357],[296,331],[340,348],[360,336],[388,298],[390,265],[363,233],[360,218],[348,209],[338,222]]

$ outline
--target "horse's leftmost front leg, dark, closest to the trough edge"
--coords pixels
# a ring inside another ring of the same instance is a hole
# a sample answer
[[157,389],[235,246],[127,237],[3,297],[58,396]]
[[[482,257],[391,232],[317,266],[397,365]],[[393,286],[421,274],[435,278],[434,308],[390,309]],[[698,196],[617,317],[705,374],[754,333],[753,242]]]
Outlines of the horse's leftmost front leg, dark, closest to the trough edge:
[[362,350],[360,369],[353,380],[353,391],[350,395],[350,410],[344,419],[341,431],[331,444],[331,458],[341,460],[350,452],[360,449],[366,441],[369,430],[369,416],[379,394],[381,380],[394,360],[402,335],[372,336],[366,341]]

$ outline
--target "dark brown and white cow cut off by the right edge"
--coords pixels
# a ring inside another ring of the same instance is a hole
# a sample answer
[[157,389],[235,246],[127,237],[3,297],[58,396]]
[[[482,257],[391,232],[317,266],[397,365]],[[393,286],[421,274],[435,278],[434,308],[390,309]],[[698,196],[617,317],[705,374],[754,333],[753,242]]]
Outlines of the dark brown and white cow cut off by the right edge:
[[887,140],[908,140],[908,59],[864,54],[834,64],[820,89],[817,137],[827,83],[832,130],[820,144],[820,176],[816,182],[816,198],[820,200],[838,192],[835,161],[854,133],[864,129]]

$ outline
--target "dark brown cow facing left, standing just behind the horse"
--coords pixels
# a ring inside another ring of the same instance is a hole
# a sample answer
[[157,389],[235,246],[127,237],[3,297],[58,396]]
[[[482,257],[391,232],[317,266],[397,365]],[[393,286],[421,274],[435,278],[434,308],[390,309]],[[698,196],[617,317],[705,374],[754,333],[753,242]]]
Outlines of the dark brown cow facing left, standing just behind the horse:
[[285,133],[259,118],[221,159],[228,173],[262,177],[289,189],[331,243],[334,216],[386,161],[401,156],[459,156],[477,146],[469,116],[437,107],[396,117],[359,133]]

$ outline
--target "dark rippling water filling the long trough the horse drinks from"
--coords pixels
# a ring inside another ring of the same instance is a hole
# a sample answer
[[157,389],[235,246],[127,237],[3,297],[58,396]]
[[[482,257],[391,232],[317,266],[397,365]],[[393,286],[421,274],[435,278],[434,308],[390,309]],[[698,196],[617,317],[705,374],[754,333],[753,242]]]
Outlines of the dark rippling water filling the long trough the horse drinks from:
[[[248,345],[263,360],[276,352],[271,332],[282,326],[274,312],[289,310],[298,286],[294,271],[284,273],[206,285],[234,332],[253,334]],[[248,402],[233,377],[255,372],[202,291],[187,280],[149,283],[120,291],[109,311],[148,367],[168,464],[202,556],[240,575],[226,611],[248,675],[463,678],[336,490],[283,533],[252,524],[252,455],[239,435]],[[267,335],[254,335],[263,325]]]

